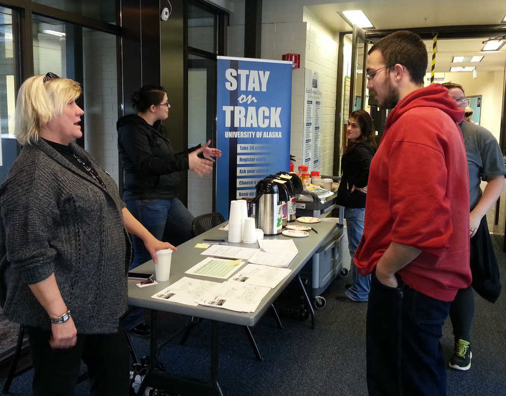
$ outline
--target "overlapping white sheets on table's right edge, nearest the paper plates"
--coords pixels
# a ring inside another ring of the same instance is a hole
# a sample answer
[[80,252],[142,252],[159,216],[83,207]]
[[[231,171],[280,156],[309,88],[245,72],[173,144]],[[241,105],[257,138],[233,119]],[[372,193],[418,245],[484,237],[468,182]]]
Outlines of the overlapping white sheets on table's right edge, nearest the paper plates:
[[292,240],[259,240],[260,250],[248,258],[250,263],[287,267],[299,250]]

